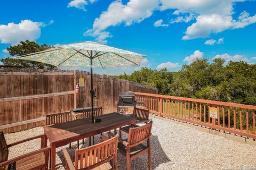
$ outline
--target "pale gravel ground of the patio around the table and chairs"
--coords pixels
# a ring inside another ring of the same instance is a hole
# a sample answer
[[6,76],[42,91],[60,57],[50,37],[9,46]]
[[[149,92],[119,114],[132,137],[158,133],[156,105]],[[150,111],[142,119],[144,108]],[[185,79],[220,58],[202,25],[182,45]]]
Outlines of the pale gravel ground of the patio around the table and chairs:
[[[256,147],[228,140],[218,135],[196,131],[187,126],[152,118],[151,153],[153,169],[244,169],[242,166],[256,167]],[[5,134],[7,143],[43,134],[42,127]],[[125,134],[123,134],[125,138]],[[100,142],[99,135],[95,137]],[[26,142],[10,149],[9,158],[39,149],[39,140]],[[85,145],[89,141],[86,139]],[[76,142],[68,149],[74,157]],[[62,148],[64,148],[62,147]],[[65,169],[61,148],[57,149],[57,169]],[[132,169],[147,169],[147,154],[133,160]],[[118,169],[125,169],[125,157],[118,153]],[[251,169],[251,168],[247,168]]]

